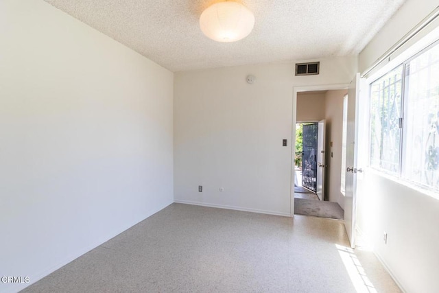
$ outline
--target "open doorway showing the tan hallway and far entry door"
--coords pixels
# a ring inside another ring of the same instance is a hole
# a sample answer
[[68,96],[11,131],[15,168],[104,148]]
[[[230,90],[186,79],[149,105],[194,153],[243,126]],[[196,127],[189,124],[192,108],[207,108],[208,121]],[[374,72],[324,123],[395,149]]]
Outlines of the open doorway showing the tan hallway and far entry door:
[[343,97],[346,93],[347,89],[297,93],[294,127],[296,214],[344,219],[340,176]]

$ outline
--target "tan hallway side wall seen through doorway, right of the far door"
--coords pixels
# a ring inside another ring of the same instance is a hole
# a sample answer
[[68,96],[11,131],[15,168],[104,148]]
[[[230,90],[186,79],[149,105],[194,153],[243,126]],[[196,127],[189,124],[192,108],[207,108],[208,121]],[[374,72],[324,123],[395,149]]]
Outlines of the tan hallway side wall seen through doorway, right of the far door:
[[[326,122],[325,193],[331,202],[344,209],[344,196],[340,191],[342,176],[343,97],[347,90],[327,91],[324,95]],[[331,147],[332,142],[332,147]],[[332,153],[332,156],[331,156]]]

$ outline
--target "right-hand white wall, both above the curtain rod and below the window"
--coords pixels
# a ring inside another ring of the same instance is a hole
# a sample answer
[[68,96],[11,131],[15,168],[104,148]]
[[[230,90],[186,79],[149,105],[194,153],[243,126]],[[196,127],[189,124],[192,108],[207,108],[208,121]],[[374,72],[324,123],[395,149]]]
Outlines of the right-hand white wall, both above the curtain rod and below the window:
[[[369,67],[437,4],[407,0],[360,54],[361,69]],[[375,253],[406,292],[439,292],[439,200],[370,169],[359,185],[357,224],[370,236]]]

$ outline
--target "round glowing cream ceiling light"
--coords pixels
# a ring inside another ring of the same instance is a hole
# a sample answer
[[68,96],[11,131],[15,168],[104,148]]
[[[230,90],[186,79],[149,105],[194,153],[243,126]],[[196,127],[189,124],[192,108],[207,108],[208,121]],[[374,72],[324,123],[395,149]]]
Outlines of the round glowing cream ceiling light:
[[252,32],[253,27],[253,13],[246,6],[233,1],[215,3],[200,16],[202,32],[217,42],[241,40]]

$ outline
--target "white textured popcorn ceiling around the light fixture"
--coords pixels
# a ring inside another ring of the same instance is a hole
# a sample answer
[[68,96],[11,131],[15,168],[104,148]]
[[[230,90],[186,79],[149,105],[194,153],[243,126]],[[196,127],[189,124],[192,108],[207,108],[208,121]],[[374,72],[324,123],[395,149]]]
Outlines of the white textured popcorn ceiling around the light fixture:
[[216,43],[198,19],[219,0],[45,0],[171,71],[358,54],[405,0],[244,0],[253,32]]

